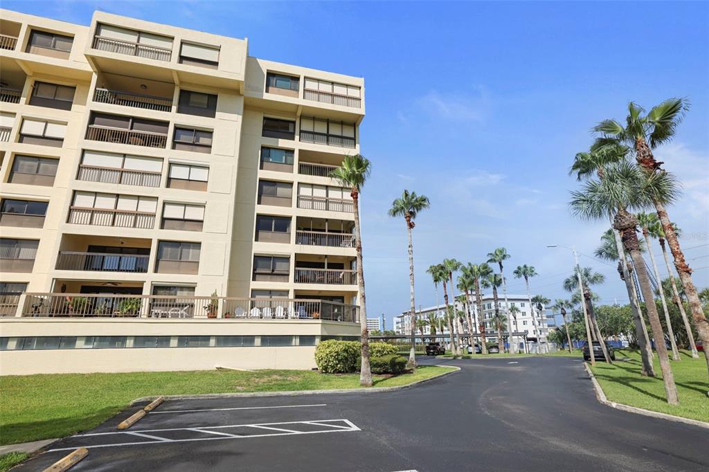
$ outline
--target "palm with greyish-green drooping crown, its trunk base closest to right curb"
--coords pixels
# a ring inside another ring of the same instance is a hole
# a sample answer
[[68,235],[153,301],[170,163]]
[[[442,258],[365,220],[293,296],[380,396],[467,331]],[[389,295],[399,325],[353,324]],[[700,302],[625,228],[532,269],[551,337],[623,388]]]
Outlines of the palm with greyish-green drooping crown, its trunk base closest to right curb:
[[[642,295],[646,301],[653,300],[647,268],[640,254],[640,242],[637,240],[637,218],[627,209],[642,210],[648,206],[650,198],[652,201],[673,201],[676,198],[676,186],[672,177],[666,172],[648,176],[640,168],[623,161],[607,167],[602,181],[589,180],[582,191],[574,191],[571,196],[571,209],[581,218],[601,219],[615,211],[613,229],[620,232],[623,248],[630,253]],[[657,306],[654,303],[645,303],[645,308],[655,339],[667,403],[676,405],[679,403],[677,388],[669,365]],[[601,342],[602,347],[603,345]]]

